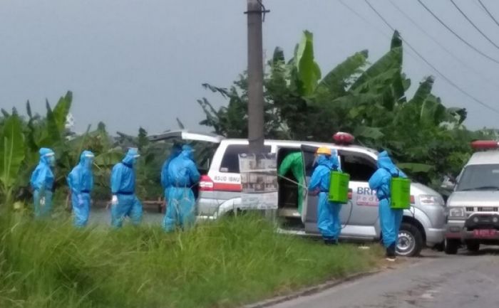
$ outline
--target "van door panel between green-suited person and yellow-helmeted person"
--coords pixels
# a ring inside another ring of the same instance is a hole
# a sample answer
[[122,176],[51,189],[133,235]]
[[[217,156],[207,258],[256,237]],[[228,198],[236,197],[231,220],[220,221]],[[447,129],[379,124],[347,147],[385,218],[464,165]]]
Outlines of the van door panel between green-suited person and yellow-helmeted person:
[[[305,174],[305,183],[307,187],[310,178],[314,172],[315,153],[318,147],[302,145],[303,167]],[[308,193],[304,196],[302,208],[302,223],[305,225],[305,233],[317,233],[317,196],[310,196]]]

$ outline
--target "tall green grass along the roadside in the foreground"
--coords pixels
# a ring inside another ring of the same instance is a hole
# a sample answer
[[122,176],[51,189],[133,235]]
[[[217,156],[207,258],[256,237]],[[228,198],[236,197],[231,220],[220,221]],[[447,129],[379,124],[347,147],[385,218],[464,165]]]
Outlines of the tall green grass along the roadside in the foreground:
[[379,250],[278,235],[237,217],[165,234],[0,221],[0,307],[235,307],[376,266]]

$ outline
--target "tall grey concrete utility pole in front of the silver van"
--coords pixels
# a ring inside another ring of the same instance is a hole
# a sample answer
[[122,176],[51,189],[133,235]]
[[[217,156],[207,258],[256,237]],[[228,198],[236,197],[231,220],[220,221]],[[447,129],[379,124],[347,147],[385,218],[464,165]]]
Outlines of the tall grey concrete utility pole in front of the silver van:
[[247,0],[248,16],[248,141],[249,152],[264,150],[262,14],[261,0]]

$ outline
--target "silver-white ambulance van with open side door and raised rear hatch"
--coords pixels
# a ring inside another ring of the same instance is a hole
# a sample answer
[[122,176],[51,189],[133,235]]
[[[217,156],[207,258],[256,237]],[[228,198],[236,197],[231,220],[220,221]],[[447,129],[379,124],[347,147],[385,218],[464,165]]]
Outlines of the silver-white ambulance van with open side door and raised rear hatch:
[[[185,130],[151,136],[152,141],[183,139],[209,142],[213,152],[200,158],[202,174],[195,191],[197,220],[214,220],[242,211],[239,154],[248,152],[247,139],[225,139],[212,134],[197,134]],[[381,238],[378,200],[369,188],[368,180],[376,171],[378,152],[356,145],[326,144],[286,140],[265,140],[268,153],[277,154],[277,166],[287,154],[302,152],[307,184],[312,175],[312,163],[318,147],[336,149],[341,169],[350,175],[349,203],[341,208],[341,239],[373,241]],[[287,177],[296,181],[291,173]],[[302,215],[297,211],[297,185],[286,179],[278,181],[277,217],[282,221],[282,232],[299,235],[319,235],[317,229],[317,197],[304,191]],[[303,188],[304,189],[304,188]],[[422,184],[411,184],[411,210],[404,211],[398,235],[399,255],[418,255],[426,245],[443,243],[446,213],[443,198]]]

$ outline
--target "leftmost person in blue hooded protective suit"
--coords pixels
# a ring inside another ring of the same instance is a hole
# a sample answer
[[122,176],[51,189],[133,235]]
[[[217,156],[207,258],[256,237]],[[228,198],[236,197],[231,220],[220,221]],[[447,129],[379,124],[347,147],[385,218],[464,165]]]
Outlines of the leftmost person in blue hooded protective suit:
[[31,174],[33,189],[34,214],[36,218],[50,216],[52,209],[52,189],[54,176],[52,166],[55,165],[55,154],[51,149],[41,148],[38,152],[40,161]]

